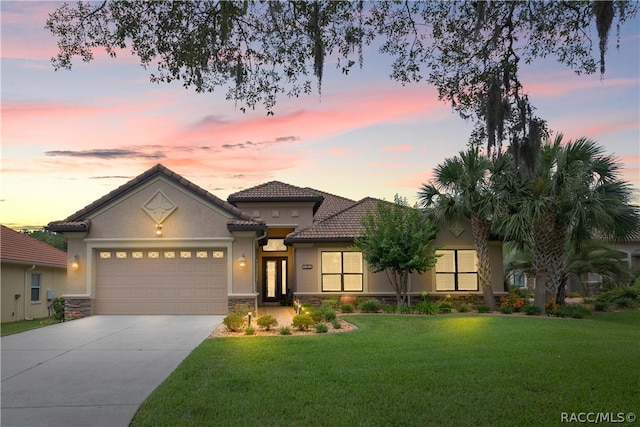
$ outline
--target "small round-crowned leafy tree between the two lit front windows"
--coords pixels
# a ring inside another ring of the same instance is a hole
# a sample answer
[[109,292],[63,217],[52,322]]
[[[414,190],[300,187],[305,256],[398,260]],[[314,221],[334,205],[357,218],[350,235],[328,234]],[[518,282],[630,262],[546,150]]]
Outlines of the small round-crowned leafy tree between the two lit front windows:
[[436,227],[397,195],[395,203],[380,201],[376,212],[365,215],[362,225],[364,231],[355,239],[355,247],[372,272],[387,274],[399,311],[407,301],[409,274],[424,273],[436,264],[431,245]]

